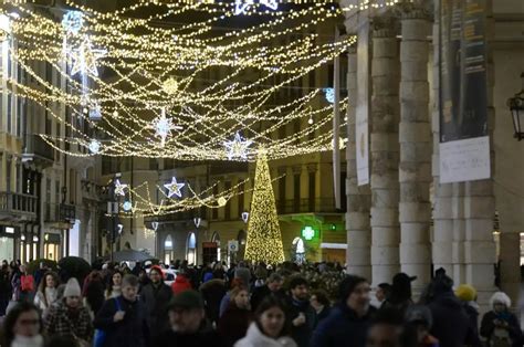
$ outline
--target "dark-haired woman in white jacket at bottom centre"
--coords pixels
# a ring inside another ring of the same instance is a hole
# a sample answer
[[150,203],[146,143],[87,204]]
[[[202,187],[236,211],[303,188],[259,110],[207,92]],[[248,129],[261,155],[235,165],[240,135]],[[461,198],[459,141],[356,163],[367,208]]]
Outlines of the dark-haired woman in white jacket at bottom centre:
[[254,314],[254,322],[248,328],[244,338],[234,347],[296,347],[289,336],[285,303],[274,296],[263,299]]

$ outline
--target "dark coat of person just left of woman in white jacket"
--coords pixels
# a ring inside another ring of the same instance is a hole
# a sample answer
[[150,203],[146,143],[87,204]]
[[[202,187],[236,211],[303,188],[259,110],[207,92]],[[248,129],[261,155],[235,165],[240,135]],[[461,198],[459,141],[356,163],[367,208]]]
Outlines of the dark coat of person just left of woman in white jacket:
[[218,324],[218,333],[226,346],[233,346],[244,337],[252,320],[251,311],[239,308],[234,303],[230,303]]

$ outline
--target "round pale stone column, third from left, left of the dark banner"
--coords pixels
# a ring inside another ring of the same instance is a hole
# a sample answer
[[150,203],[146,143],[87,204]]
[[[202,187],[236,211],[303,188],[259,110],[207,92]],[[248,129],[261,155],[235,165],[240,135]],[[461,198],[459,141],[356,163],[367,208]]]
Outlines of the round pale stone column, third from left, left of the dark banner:
[[415,286],[431,278],[429,228],[431,204],[431,128],[429,124],[428,34],[422,8],[406,6],[400,42],[400,264],[416,275]]

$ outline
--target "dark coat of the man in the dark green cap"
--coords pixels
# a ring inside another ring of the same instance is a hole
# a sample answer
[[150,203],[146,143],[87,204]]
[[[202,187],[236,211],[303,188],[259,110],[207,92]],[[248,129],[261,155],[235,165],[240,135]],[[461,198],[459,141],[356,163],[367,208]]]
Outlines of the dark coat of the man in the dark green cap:
[[153,347],[224,347],[220,335],[209,327],[202,327],[195,334],[179,334],[172,329],[161,333]]

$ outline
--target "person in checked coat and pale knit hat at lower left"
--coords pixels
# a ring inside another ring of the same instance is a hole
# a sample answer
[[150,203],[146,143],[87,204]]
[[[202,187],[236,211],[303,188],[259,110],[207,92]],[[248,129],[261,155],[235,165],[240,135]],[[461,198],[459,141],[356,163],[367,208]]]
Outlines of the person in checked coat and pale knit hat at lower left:
[[73,335],[81,345],[86,345],[93,336],[90,312],[82,305],[80,284],[71,277],[64,290],[62,301],[51,305],[44,317],[49,336]]

